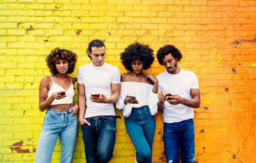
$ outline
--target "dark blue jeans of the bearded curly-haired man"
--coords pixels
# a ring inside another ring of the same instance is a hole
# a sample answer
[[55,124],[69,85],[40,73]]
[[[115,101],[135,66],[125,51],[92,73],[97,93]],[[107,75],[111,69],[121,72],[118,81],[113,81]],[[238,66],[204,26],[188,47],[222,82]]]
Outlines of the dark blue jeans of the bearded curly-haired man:
[[179,162],[179,148],[181,162],[194,162],[195,131],[193,119],[164,123],[164,151],[167,162]]

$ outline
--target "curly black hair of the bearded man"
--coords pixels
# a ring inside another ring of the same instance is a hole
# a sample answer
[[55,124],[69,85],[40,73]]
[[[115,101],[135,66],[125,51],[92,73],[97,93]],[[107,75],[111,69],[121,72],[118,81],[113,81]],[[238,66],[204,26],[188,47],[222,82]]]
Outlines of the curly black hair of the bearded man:
[[168,55],[169,53],[172,54],[172,56],[177,59],[177,62],[182,59],[182,54],[180,53],[180,50],[176,48],[173,45],[164,45],[163,47],[159,48],[157,51],[157,60],[159,64],[163,65],[163,59],[165,55]]

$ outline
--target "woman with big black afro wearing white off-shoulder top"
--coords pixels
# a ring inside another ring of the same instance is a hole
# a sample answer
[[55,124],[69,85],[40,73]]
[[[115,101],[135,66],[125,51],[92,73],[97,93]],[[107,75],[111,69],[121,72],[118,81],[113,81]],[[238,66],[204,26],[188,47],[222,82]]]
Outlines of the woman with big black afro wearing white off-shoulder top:
[[148,45],[133,43],[120,54],[129,73],[121,76],[121,92],[116,108],[123,110],[126,130],[136,148],[135,160],[152,162],[152,145],[157,113],[158,81],[153,74],[145,74],[154,61]]

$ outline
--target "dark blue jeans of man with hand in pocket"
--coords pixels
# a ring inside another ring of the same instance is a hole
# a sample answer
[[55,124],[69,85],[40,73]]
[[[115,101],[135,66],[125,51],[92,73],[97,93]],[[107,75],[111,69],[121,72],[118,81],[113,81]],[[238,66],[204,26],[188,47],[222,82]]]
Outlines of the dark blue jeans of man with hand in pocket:
[[87,163],[108,162],[113,156],[116,139],[115,116],[86,118],[91,125],[81,125]]

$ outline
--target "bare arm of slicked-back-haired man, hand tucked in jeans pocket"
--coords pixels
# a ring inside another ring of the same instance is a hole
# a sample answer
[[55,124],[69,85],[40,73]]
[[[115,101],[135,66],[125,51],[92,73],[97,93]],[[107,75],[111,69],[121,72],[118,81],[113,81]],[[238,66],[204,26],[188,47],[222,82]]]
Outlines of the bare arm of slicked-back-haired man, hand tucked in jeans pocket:
[[81,125],[87,124],[91,125],[89,122],[87,122],[86,119],[84,119],[84,113],[86,110],[86,96],[85,96],[85,89],[83,84],[77,83],[77,90],[78,90],[78,99],[77,103],[79,106],[79,122]]

